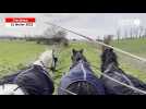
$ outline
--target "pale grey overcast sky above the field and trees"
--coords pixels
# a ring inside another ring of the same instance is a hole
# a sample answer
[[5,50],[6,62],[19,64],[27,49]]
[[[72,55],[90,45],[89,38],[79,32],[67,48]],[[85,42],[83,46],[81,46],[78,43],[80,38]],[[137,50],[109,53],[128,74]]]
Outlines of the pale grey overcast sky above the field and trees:
[[[35,27],[5,27],[4,17],[36,17]],[[51,22],[92,38],[114,35],[117,28],[129,25],[146,26],[146,13],[0,13],[0,35],[40,35]],[[78,37],[68,34],[68,37]]]

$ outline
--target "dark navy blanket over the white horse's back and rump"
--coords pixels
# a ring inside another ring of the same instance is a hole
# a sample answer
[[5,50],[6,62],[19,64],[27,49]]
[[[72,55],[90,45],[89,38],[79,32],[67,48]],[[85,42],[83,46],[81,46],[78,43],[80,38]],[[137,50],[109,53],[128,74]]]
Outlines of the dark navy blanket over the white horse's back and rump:
[[14,83],[31,95],[50,95],[54,89],[53,81],[39,65],[34,65],[32,69],[19,74]]

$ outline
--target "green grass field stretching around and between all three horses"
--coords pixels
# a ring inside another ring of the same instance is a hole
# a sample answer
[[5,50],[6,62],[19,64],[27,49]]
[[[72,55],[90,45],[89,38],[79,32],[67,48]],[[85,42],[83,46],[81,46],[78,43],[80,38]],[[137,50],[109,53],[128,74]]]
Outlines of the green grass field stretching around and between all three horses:
[[[112,43],[112,46],[121,48],[131,53],[146,58],[146,39],[138,40],[121,40]],[[26,66],[34,62],[37,57],[45,51],[46,48],[51,48],[46,45],[38,45],[34,41],[0,41],[0,76],[14,73],[15,71]],[[69,47],[57,47],[57,56],[59,58],[58,66],[59,71],[54,72],[53,80],[56,82],[56,88],[60,82],[61,76],[69,71],[71,66],[71,50],[72,48],[82,49],[84,48],[84,55],[92,65],[100,68],[100,49],[99,46],[96,48],[95,45],[76,41],[70,43]],[[146,82],[146,63],[133,60],[127,56],[118,53],[120,66],[139,80]],[[99,75],[95,68],[95,73]]]

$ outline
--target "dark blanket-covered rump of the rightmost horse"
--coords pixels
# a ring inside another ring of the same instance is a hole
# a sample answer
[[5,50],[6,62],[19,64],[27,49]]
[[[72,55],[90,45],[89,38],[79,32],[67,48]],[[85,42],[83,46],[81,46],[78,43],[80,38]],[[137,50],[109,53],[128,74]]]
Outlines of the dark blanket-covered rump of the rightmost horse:
[[[124,73],[118,74],[115,72],[112,72],[112,73],[107,73],[107,75],[109,75],[110,77],[112,77],[121,83],[131,85],[133,87],[135,86],[135,84],[133,84],[133,82]],[[134,92],[133,89],[131,89],[126,86],[123,86],[123,85],[121,85],[112,80],[105,77],[105,76],[101,76],[101,81],[105,85],[105,89],[106,89],[107,94],[112,94],[112,95],[135,95],[135,94],[138,94],[138,93]]]

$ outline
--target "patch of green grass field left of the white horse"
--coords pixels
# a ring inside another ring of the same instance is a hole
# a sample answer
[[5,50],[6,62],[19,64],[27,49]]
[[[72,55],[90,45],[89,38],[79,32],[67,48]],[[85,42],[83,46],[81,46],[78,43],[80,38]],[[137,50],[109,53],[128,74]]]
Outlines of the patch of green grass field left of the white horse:
[[0,76],[31,64],[46,49],[45,45],[26,41],[0,41]]

